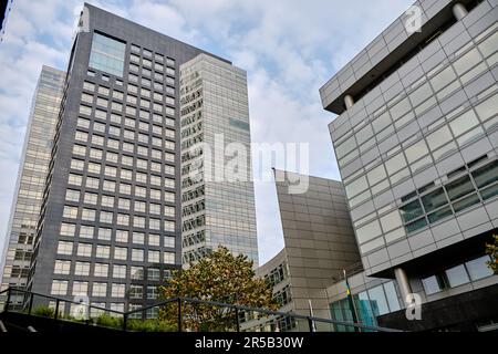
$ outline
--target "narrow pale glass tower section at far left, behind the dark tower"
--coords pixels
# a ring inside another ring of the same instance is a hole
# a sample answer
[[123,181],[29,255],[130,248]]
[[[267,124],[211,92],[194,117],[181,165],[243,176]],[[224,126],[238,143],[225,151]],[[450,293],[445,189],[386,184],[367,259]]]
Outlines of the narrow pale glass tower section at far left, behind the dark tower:
[[[1,290],[22,289],[28,282],[64,80],[65,72],[43,66],[34,91],[1,260],[4,262]],[[12,305],[19,305],[22,299],[12,294]]]

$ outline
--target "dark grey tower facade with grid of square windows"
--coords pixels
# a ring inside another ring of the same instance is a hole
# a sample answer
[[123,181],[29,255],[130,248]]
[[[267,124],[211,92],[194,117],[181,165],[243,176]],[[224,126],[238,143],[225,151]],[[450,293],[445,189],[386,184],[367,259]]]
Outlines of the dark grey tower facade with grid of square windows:
[[201,52],[85,4],[30,290],[133,310],[180,267],[178,70]]

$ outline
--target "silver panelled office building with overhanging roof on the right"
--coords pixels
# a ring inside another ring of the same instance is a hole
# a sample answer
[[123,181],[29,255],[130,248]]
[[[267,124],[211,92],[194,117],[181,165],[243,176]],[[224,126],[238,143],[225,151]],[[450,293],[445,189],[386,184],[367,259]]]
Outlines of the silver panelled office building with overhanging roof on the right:
[[423,303],[407,321],[372,292],[383,324],[476,329],[498,319],[485,254],[498,227],[498,3],[415,6],[421,31],[417,11],[402,15],[320,94],[339,114],[330,132],[364,274]]

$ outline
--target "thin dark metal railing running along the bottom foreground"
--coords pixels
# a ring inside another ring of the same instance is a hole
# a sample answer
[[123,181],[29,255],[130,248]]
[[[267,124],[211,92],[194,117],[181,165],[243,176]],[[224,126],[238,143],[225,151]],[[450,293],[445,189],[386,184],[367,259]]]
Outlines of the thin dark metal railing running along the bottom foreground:
[[[85,304],[82,302],[76,302],[76,301],[64,299],[64,298],[45,295],[45,294],[41,294],[41,293],[28,291],[28,290],[22,290],[22,289],[9,288],[7,290],[1,291],[0,295],[2,295],[4,293],[7,293],[7,301],[4,302],[3,312],[9,312],[9,311],[19,312],[19,311],[10,310],[9,305],[11,302],[12,293],[21,293],[24,295],[24,302],[22,305],[23,310],[21,312],[28,313],[30,315],[33,312],[34,298],[40,296],[42,299],[46,299],[49,301],[55,302],[55,310],[54,310],[54,314],[53,314],[54,320],[59,319],[61,303],[64,303],[64,305],[66,303],[77,304],[77,305],[83,304],[89,309],[89,312],[90,312],[90,310],[94,309],[102,313],[106,313],[106,312],[111,313],[115,317],[121,319],[122,320],[122,324],[121,324],[122,331],[129,330],[129,321],[133,317],[135,317],[136,314],[142,314],[141,317],[145,317],[145,316],[143,316],[143,314],[147,310],[154,310],[154,309],[164,310],[169,305],[176,306],[174,309],[174,311],[176,312],[175,321],[169,319],[170,323],[176,322],[176,331],[178,331],[178,332],[193,331],[191,326],[186,327],[186,325],[185,325],[187,317],[188,317],[188,320],[191,320],[190,319],[191,312],[186,311],[186,308],[190,306],[190,310],[191,310],[193,306],[195,308],[195,306],[201,305],[201,306],[209,306],[210,309],[219,308],[219,309],[222,309],[225,311],[225,313],[227,313],[228,311],[231,311],[234,313],[234,323],[232,323],[234,327],[231,330],[232,332],[255,331],[255,329],[257,327],[257,324],[255,324],[255,323],[251,324],[251,321],[241,319],[246,314],[257,314],[258,320],[267,319],[269,322],[277,321],[277,319],[289,317],[289,319],[292,319],[292,321],[294,321],[294,322],[305,323],[307,331],[309,331],[309,332],[317,332],[319,327],[322,327],[322,330],[323,330],[323,327],[325,327],[325,329],[328,327],[328,329],[330,329],[331,332],[338,331],[338,327],[347,327],[347,329],[354,330],[355,332],[403,332],[401,330],[366,325],[366,324],[362,324],[362,323],[329,320],[329,319],[322,319],[322,317],[317,317],[317,316],[312,316],[312,315],[302,315],[302,314],[297,314],[297,313],[291,313],[291,312],[280,312],[280,311],[272,311],[272,310],[266,310],[266,309],[256,309],[256,308],[249,308],[249,306],[243,306],[243,305],[228,304],[228,303],[222,303],[222,302],[217,302],[217,301],[206,301],[206,300],[190,299],[190,298],[168,299],[168,300],[159,301],[157,303],[154,303],[154,304],[151,304],[147,306],[131,310],[127,312],[122,312],[122,311],[105,309],[105,308],[93,305],[93,304]],[[242,321],[242,320],[245,320],[245,321]],[[87,321],[87,323],[89,322],[90,321]],[[189,322],[189,323],[191,323],[191,322]],[[300,326],[298,329],[298,331],[303,331],[302,326]]]

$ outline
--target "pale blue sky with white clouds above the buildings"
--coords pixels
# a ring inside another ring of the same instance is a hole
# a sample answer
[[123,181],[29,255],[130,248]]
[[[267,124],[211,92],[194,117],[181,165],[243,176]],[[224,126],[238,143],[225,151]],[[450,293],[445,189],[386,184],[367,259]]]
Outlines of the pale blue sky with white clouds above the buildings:
[[[339,178],[326,128],[333,115],[322,110],[318,90],[412,2],[90,1],[247,70],[252,142],[310,143],[310,174],[328,178]],[[41,66],[65,69],[81,6],[74,0],[13,2],[0,43],[0,247]],[[283,247],[272,183],[256,184],[256,205],[263,263]]]

